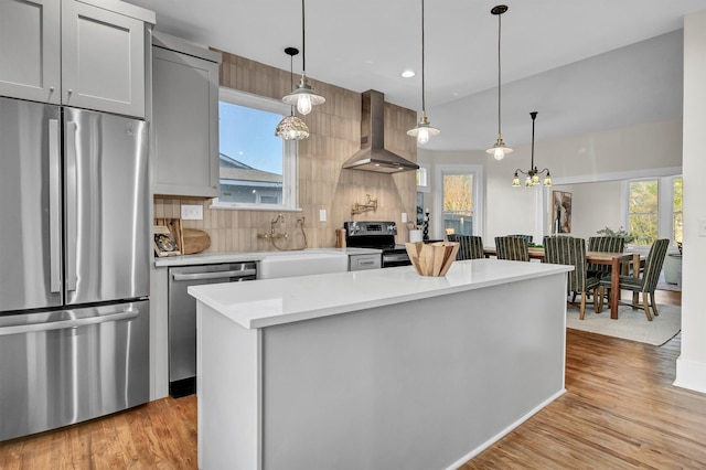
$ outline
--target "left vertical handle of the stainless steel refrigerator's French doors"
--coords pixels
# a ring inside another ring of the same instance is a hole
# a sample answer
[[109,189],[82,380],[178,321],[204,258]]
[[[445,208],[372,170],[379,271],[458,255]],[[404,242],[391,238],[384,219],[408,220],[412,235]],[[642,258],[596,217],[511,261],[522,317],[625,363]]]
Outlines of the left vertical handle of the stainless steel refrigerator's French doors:
[[61,167],[60,167],[58,119],[49,119],[49,253],[50,253],[50,289],[62,291],[61,266]]

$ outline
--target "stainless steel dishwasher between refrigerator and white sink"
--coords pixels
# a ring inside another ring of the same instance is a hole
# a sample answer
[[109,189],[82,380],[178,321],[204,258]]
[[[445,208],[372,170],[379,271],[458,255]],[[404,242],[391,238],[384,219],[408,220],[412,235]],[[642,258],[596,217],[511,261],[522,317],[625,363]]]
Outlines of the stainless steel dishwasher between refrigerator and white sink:
[[169,394],[196,392],[196,299],[189,286],[255,280],[255,261],[169,268]]

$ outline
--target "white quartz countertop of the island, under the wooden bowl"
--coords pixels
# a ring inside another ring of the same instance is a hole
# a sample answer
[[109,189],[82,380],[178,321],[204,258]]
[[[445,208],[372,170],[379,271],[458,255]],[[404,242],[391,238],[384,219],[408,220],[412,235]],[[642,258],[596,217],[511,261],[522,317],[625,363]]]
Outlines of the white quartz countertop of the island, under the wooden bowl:
[[272,327],[392,303],[481,289],[573,270],[499,259],[454,261],[443,277],[414,267],[371,269],[189,287],[189,293],[246,329]]

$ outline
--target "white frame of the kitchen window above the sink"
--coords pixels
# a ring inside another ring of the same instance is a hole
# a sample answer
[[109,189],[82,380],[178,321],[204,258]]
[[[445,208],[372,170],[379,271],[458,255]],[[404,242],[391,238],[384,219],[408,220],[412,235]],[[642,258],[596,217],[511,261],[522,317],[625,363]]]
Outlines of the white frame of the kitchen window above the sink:
[[[266,96],[255,95],[239,89],[218,87],[218,104],[221,102],[229,103],[237,106],[258,109],[267,113],[289,116],[291,107],[286,103],[268,98]],[[220,131],[218,131],[220,132]],[[272,129],[272,135],[275,129]],[[218,133],[220,136],[220,133]],[[221,138],[218,137],[218,153],[221,153]],[[246,211],[301,211],[299,207],[298,191],[298,161],[299,146],[296,140],[282,139],[282,203],[243,203],[243,202],[224,202],[218,197],[214,197],[211,202],[211,209],[225,210],[246,210]],[[218,164],[218,171],[221,165]],[[221,191],[221,175],[218,175],[218,192]]]

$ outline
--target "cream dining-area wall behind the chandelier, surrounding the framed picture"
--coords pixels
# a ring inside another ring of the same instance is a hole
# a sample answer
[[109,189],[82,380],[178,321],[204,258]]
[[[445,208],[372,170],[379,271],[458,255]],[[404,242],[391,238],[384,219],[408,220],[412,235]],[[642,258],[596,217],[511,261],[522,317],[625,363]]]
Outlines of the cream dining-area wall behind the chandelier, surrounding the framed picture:
[[[539,114],[541,116],[541,114]],[[538,118],[537,118],[538,119]],[[531,126],[528,122],[527,126]],[[608,184],[631,177],[662,174],[663,169],[680,172],[682,165],[682,120],[673,119],[625,128],[609,129],[550,141],[535,141],[535,165],[548,167],[555,185],[542,188],[512,188],[515,169],[528,170],[531,145],[515,146],[515,151],[502,161],[495,161],[484,150],[431,151],[418,150],[418,161],[435,171],[435,164],[483,164],[485,172],[485,220],[483,239],[506,234],[548,233],[548,220],[542,226],[539,212],[550,217],[552,190],[566,191],[565,184],[576,190],[573,206],[573,226],[577,236],[588,237],[595,232],[621,225],[620,184]],[[675,149],[677,149],[675,151]],[[596,182],[593,184],[576,184]],[[545,206],[537,192],[545,192]],[[571,191],[573,192],[573,191]],[[425,201],[426,203],[426,201]],[[603,222],[605,221],[605,222]],[[435,236],[439,236],[435,234]],[[535,235],[537,238],[537,235]],[[541,238],[541,236],[539,236]]]

